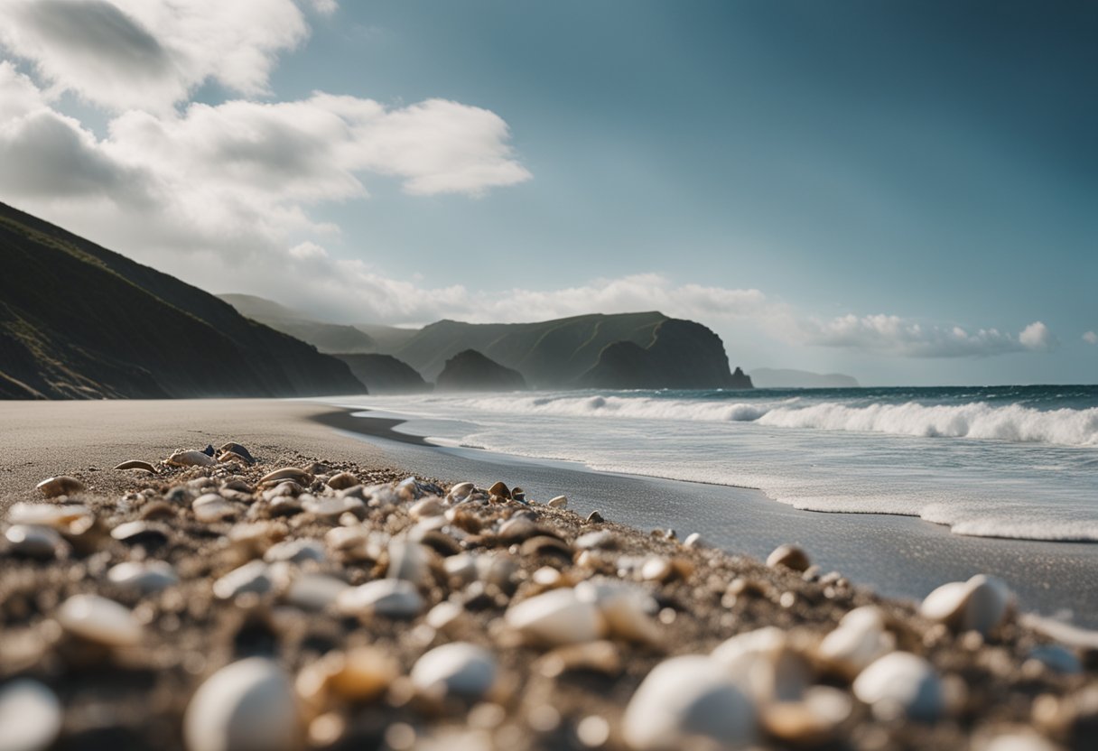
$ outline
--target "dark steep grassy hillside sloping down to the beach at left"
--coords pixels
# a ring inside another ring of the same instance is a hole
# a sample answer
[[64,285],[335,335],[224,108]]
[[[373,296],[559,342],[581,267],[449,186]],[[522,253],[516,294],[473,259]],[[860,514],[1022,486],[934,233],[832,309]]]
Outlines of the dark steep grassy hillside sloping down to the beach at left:
[[0,203],[0,397],[361,393],[339,360]]

